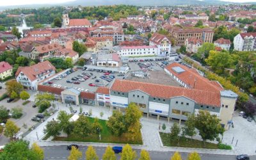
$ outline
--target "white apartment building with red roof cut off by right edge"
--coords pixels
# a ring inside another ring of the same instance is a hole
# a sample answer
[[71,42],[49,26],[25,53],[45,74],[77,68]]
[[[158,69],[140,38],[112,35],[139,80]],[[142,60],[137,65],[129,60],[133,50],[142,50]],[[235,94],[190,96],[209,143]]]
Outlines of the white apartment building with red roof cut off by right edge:
[[236,51],[256,51],[256,33],[239,33],[234,37]]

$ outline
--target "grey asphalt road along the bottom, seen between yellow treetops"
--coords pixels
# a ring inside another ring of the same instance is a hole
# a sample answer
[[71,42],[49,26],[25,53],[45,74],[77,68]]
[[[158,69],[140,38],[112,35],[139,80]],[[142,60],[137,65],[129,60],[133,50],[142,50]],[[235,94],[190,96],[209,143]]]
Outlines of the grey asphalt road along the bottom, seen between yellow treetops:
[[[69,156],[70,150],[67,150],[66,146],[52,146],[52,147],[42,147],[44,148],[45,159],[67,159]],[[79,147],[79,150],[83,152],[83,159],[85,159],[85,152],[87,147]],[[94,147],[97,155],[101,158],[105,152],[104,147]],[[137,156],[140,157],[140,150],[136,150]],[[152,160],[169,160],[173,155],[173,152],[149,152]],[[120,159],[120,155],[116,154],[118,159]],[[187,159],[187,153],[181,153],[182,159]],[[225,155],[214,155],[214,154],[200,154],[202,160],[235,160],[236,156],[225,156]],[[256,159],[256,156],[251,156],[251,159]]]

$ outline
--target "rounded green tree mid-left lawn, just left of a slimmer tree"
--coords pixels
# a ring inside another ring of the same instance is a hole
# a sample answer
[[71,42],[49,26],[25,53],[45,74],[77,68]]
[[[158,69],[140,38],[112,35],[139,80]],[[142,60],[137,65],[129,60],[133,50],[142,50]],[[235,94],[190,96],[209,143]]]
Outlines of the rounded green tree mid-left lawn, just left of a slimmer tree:
[[92,126],[86,116],[80,115],[77,121],[74,122],[73,132],[83,138],[92,132]]

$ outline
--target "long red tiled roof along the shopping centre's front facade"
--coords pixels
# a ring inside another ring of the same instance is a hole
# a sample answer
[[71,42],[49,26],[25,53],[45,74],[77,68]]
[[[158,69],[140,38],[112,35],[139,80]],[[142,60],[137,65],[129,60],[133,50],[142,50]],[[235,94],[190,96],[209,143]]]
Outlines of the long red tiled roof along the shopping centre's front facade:
[[184,96],[195,100],[198,104],[220,107],[220,92],[208,92],[205,90],[195,90],[176,86],[164,86],[161,84],[142,83],[138,81],[127,81],[116,79],[110,90],[116,92],[130,92],[140,90],[152,97],[170,99],[172,97]]

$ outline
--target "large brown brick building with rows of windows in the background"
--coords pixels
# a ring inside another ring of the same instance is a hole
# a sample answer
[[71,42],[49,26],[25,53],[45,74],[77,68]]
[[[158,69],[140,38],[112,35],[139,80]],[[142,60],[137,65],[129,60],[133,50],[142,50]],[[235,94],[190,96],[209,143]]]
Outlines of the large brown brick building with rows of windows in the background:
[[212,43],[214,31],[209,28],[181,29],[172,28],[170,34],[177,41],[177,45],[184,45],[187,38],[195,37],[203,42]]

